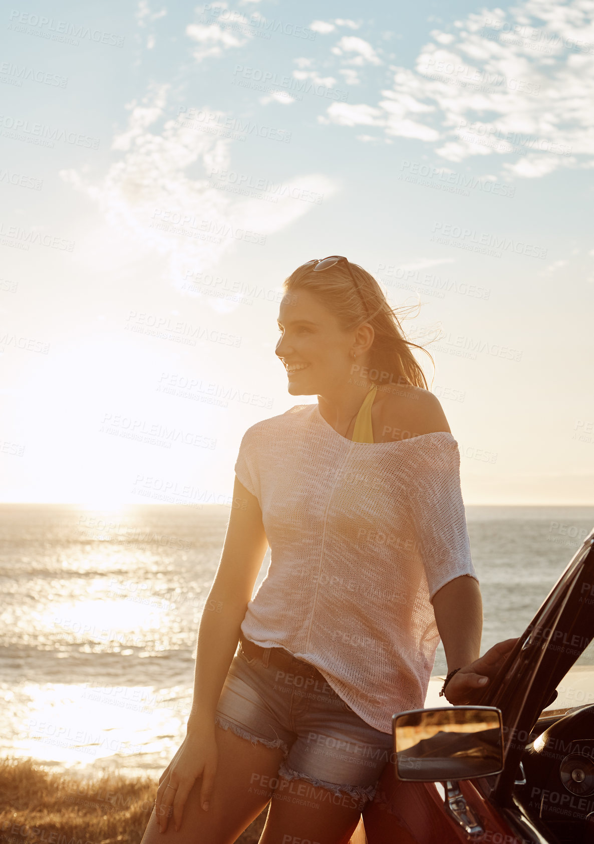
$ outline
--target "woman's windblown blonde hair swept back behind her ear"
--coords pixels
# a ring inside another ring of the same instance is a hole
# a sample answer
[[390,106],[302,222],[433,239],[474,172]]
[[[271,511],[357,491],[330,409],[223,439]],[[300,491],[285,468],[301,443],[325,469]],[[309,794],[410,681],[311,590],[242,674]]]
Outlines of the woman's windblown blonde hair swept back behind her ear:
[[[375,333],[369,349],[370,381],[380,386],[388,376],[392,376],[391,382],[396,376],[397,383],[428,389],[424,371],[412,349],[422,349],[428,354],[434,371],[435,361],[424,346],[405,337],[397,311],[388,304],[386,295],[374,277],[359,267],[359,264],[350,261],[348,264],[358,282],[359,292],[354,287],[348,269],[338,263],[320,273],[315,273],[311,265],[298,267],[284,279],[284,293],[290,295],[297,289],[309,290],[337,317],[343,331],[350,331],[363,322],[370,323]],[[408,306],[398,309],[400,313],[408,310]]]

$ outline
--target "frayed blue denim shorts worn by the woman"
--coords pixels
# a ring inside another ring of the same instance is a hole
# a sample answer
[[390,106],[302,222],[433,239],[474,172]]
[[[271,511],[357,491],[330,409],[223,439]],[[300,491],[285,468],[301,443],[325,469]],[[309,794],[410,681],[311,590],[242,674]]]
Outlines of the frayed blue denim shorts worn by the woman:
[[333,803],[362,810],[392,761],[392,734],[360,718],[314,666],[297,657],[284,670],[269,665],[271,650],[248,657],[240,642],[215,723],[253,744],[283,749],[278,776],[326,788]]

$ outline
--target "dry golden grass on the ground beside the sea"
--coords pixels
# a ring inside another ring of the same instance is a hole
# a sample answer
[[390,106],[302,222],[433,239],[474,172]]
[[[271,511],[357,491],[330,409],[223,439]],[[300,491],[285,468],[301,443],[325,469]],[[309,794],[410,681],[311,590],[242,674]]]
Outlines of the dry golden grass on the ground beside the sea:
[[[0,760],[0,844],[139,844],[158,777],[103,773],[93,780]],[[236,844],[257,844],[266,809]]]

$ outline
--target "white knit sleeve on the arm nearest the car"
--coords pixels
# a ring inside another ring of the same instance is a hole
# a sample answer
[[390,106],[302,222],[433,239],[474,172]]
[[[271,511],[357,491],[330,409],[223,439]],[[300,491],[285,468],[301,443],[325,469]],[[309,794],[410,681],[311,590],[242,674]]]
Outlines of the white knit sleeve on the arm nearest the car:
[[460,452],[453,437],[427,437],[413,473],[412,517],[429,599],[461,575],[478,582],[470,555],[460,485]]

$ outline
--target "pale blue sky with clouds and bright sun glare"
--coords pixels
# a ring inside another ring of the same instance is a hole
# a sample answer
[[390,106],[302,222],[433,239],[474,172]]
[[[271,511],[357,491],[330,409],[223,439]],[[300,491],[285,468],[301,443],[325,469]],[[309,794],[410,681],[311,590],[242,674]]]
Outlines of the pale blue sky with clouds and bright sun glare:
[[[594,2],[0,15],[3,501],[229,504],[282,283],[375,276],[465,503],[594,503]],[[429,342],[432,340],[432,342]]]

